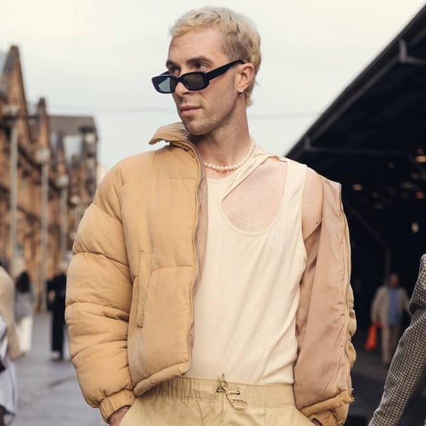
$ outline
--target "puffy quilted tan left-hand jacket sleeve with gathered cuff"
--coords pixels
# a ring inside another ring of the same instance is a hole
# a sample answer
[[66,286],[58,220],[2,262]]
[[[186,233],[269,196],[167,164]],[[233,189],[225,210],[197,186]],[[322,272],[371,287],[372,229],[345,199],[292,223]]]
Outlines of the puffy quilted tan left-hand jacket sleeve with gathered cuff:
[[87,403],[104,420],[132,405],[127,331],[132,282],[120,218],[120,170],[101,182],[83,216],[67,274],[71,360]]

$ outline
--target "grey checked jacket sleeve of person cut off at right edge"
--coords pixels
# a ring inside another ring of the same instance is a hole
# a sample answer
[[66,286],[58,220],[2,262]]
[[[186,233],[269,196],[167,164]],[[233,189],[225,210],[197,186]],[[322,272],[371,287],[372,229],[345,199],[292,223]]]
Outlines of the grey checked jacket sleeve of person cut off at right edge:
[[[410,301],[412,320],[390,364],[381,402],[370,426],[396,426],[426,386],[426,254]],[[426,424],[426,411],[425,411]]]

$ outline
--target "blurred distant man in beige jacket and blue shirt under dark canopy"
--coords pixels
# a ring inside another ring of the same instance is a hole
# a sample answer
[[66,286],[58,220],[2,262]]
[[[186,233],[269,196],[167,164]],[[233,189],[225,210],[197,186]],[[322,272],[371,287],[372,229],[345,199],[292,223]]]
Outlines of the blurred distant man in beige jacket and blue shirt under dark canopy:
[[407,291],[399,283],[399,275],[391,273],[388,283],[377,289],[371,305],[372,322],[381,324],[381,355],[385,366],[389,366],[398,344],[403,313],[410,314]]

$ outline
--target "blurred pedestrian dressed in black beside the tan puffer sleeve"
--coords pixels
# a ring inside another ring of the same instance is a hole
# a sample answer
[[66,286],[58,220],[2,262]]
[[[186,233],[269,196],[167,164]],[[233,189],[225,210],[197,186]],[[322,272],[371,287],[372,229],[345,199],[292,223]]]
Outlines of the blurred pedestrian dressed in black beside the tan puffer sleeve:
[[49,282],[49,307],[52,311],[51,349],[58,352],[54,360],[64,359],[65,293],[67,289],[67,264],[61,262],[58,273]]

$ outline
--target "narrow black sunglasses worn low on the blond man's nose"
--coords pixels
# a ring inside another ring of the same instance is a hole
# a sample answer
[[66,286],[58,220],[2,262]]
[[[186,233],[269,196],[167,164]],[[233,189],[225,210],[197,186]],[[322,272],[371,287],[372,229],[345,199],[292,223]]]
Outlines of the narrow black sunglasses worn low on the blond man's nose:
[[180,77],[170,76],[168,71],[159,76],[153,77],[153,85],[155,90],[159,93],[173,93],[176,89],[177,83],[181,82],[188,90],[203,90],[208,87],[210,80],[225,74],[225,72],[234,67],[236,64],[243,64],[243,60],[233,60],[229,64],[222,65],[221,67],[212,69],[209,72],[195,71],[182,74]]

